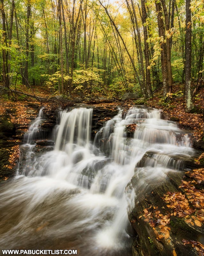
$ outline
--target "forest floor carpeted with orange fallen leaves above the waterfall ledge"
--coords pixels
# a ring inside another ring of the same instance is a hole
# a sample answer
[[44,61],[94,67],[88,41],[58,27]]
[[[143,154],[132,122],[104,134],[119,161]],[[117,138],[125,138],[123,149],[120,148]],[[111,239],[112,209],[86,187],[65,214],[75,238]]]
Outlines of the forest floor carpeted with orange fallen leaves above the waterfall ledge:
[[[0,97],[0,104],[3,106],[3,108],[0,108],[0,115],[2,115],[5,112],[6,108],[10,108],[11,106],[15,106],[18,110],[18,114],[15,118],[18,122],[27,122],[29,121],[28,115],[26,115],[26,109],[25,106],[27,105],[27,102],[33,102],[33,104],[40,105],[47,105],[48,107],[62,107],[66,108],[66,104],[69,105],[70,103],[75,102],[81,102],[84,104],[92,104],[94,105],[94,102],[97,103],[97,100],[91,100],[89,98],[80,98],[78,95],[73,95],[72,99],[68,98],[57,98],[55,95],[47,91],[47,88],[36,86],[33,87],[32,90],[29,88],[26,88],[25,85],[21,85],[20,88],[18,88],[18,91],[26,92],[28,94],[36,95],[37,97],[43,98],[44,100],[39,103],[38,100],[26,96],[26,95],[18,95],[15,97],[14,94],[11,94],[11,99],[9,100],[7,97]],[[200,90],[197,92],[195,97],[193,98],[194,103],[194,111],[193,113],[186,113],[185,112],[185,100],[184,100],[184,85],[183,84],[174,84],[173,85],[173,92],[168,97],[168,99],[164,100],[162,95],[162,90],[157,89],[157,91],[154,92],[154,97],[149,100],[144,100],[144,98],[140,98],[138,100],[128,100],[123,101],[121,104],[121,101],[118,100],[98,100],[98,104],[101,106],[115,106],[115,105],[123,105],[123,106],[131,106],[131,105],[146,105],[148,107],[152,108],[158,108],[162,109],[164,113],[167,114],[168,118],[171,121],[176,121],[181,128],[193,130],[193,136],[199,140],[203,138],[204,136],[204,115],[202,114],[202,109],[204,109],[204,86],[200,88]],[[102,95],[103,96],[103,95]],[[104,96],[105,97],[105,96]],[[94,98],[94,96],[93,96]],[[28,119],[26,119],[28,118]]]

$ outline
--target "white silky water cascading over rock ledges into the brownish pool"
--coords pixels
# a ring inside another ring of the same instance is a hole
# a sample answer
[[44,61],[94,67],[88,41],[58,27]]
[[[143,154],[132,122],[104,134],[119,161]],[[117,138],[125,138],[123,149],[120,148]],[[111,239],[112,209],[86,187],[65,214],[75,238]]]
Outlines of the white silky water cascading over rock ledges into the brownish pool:
[[[120,110],[93,144],[91,116],[90,108],[63,112],[54,150],[28,157],[24,175],[1,186],[2,249],[132,254],[127,209],[138,195],[126,185],[134,173],[140,178],[138,193],[158,176],[165,180],[167,172],[178,171],[192,157],[193,149],[188,135],[161,120],[156,109],[130,108],[126,115]],[[38,117],[38,132],[39,122]],[[136,126],[133,138],[127,137],[129,124]],[[27,144],[36,129],[30,131]]]

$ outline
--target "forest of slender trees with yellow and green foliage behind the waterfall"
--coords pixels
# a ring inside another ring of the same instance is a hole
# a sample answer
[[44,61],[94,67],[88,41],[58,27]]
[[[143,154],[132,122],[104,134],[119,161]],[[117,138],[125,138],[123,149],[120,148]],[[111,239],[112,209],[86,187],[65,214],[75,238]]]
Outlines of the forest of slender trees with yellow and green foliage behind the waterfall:
[[185,84],[186,112],[203,78],[199,0],[1,0],[1,80],[18,90],[164,98]]

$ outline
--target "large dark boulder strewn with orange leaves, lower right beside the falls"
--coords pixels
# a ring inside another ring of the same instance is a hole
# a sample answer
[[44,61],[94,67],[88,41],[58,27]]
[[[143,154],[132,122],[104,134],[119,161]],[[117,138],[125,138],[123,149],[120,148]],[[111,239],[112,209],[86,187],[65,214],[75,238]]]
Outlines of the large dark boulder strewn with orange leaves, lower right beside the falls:
[[[135,207],[128,214],[137,234],[133,255],[202,255],[204,228],[200,213],[203,210],[197,206],[196,197],[195,202],[192,198],[194,193],[202,196],[203,186],[192,179],[191,172],[169,172],[163,180],[135,168],[126,188],[134,190],[136,195]],[[141,180],[146,181],[145,186]],[[191,194],[192,198],[188,198]]]

